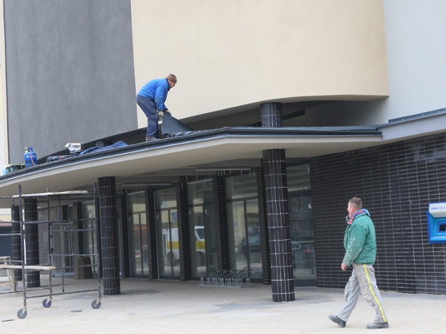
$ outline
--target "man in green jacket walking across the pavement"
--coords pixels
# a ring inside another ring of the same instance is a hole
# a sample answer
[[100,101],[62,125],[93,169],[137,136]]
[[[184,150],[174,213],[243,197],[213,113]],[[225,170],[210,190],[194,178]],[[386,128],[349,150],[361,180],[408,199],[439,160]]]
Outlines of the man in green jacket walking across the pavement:
[[389,328],[383,301],[376,286],[375,270],[373,264],[376,260],[376,236],[373,221],[367,209],[362,209],[362,200],[357,197],[348,201],[348,216],[346,232],[344,234],[344,248],[346,255],[342,260],[341,270],[353,265],[353,271],[345,287],[344,296],[346,305],[337,313],[328,318],[345,327],[348,317],[356,306],[360,294],[375,309],[376,316],[373,323],[367,328]]

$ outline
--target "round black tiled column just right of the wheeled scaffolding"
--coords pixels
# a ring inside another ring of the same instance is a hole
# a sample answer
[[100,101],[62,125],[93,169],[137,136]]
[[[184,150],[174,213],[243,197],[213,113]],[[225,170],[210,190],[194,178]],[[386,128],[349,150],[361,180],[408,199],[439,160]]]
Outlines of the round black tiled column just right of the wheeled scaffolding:
[[104,294],[121,294],[116,217],[116,183],[114,177],[99,178],[99,209]]

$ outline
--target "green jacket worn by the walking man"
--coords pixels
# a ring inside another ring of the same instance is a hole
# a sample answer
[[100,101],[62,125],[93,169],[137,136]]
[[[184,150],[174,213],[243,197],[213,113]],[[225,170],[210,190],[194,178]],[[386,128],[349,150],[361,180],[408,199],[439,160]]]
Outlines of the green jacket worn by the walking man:
[[342,263],[351,266],[357,264],[374,264],[376,260],[376,236],[374,222],[364,209],[351,224],[347,224],[344,234],[344,248],[346,255]]

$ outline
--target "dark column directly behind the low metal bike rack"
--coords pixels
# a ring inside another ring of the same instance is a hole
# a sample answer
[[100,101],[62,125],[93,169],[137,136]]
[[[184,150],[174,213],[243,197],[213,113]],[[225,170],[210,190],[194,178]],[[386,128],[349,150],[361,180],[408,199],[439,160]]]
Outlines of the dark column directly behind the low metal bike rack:
[[213,198],[215,216],[215,237],[217,239],[217,269],[228,270],[229,267],[229,241],[228,221],[226,216],[226,198],[224,177],[213,178]]

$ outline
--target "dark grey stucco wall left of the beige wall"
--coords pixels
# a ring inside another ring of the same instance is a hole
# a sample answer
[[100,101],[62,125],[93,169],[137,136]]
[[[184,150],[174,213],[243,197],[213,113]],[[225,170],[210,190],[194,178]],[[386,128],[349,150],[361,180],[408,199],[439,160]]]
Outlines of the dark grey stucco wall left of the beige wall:
[[4,0],[10,164],[137,129],[130,0]]

